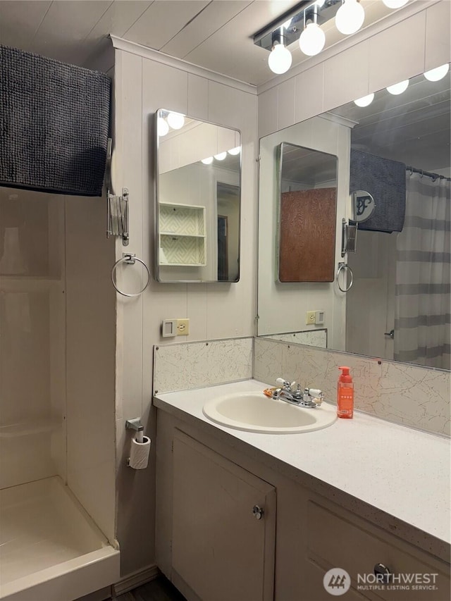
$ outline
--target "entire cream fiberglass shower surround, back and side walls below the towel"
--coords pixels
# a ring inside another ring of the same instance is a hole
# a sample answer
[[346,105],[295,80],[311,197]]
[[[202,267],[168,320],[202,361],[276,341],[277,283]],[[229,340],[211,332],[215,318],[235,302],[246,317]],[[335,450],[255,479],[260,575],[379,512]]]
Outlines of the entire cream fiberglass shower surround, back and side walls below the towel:
[[0,187],[0,488],[60,476],[114,538],[106,199]]

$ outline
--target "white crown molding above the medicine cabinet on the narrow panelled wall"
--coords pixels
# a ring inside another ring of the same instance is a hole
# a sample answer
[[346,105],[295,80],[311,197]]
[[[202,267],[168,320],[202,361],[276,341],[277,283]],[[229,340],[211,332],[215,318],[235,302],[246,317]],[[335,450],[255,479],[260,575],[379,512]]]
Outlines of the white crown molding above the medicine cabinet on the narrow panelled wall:
[[228,77],[228,75],[216,73],[216,71],[212,71],[204,67],[193,65],[192,63],[183,61],[182,58],[169,56],[168,54],[164,54],[159,50],[147,48],[147,46],[142,46],[141,44],[136,44],[135,42],[129,42],[127,39],[117,37],[116,35],[110,34],[110,38],[111,42],[113,42],[113,47],[115,50],[123,50],[124,52],[130,52],[130,54],[137,54],[137,56],[149,58],[151,61],[155,61],[156,63],[161,63],[162,65],[167,65],[175,69],[180,69],[182,71],[186,71],[187,73],[191,73],[192,75],[199,75],[201,78],[221,83],[223,85],[227,85],[228,87],[234,87],[235,89],[239,89],[241,92],[247,92],[247,94],[253,94],[254,96],[257,95],[257,86],[252,84],[235,80],[234,78]]

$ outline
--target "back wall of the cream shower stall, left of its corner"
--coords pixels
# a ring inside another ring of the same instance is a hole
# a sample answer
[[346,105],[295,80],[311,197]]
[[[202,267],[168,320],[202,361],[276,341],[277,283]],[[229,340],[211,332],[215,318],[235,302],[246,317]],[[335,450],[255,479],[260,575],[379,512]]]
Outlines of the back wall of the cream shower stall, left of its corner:
[[63,209],[0,187],[0,488],[66,478]]

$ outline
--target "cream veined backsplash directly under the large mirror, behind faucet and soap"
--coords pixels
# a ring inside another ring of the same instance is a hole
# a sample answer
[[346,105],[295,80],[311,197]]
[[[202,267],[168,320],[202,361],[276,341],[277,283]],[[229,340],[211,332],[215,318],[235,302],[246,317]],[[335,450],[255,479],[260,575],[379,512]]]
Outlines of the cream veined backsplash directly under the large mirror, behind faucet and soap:
[[355,409],[403,426],[450,435],[450,372],[255,339],[254,378],[268,385],[275,385],[280,377],[295,380],[302,387],[321,388],[326,399],[336,402],[341,365],[350,367]]

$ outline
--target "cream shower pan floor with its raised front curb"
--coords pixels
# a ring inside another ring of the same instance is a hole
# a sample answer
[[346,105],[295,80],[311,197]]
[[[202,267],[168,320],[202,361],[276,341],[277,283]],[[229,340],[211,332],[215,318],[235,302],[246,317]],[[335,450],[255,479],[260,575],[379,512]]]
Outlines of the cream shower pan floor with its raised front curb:
[[0,490],[0,599],[71,601],[119,579],[119,551],[54,476]]

